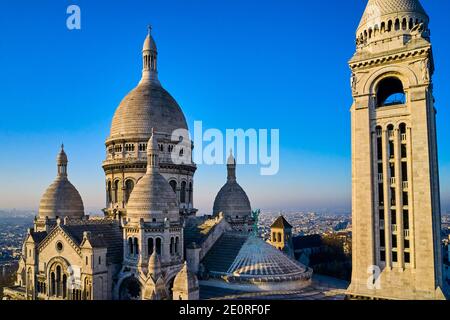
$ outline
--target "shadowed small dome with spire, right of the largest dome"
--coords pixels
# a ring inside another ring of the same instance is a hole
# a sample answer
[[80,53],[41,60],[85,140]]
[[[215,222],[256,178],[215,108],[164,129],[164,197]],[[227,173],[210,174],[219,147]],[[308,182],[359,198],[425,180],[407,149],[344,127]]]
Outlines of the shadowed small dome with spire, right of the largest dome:
[[244,189],[236,181],[236,160],[230,154],[227,161],[227,183],[220,189],[216,196],[213,214],[223,213],[225,217],[239,219],[251,217],[252,209],[250,200]]

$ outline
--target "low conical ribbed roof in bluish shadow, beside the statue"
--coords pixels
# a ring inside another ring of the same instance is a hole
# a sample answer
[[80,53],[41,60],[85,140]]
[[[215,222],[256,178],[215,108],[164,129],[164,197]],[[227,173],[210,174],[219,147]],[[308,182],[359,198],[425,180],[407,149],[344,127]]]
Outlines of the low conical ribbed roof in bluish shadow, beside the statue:
[[248,236],[227,274],[234,280],[242,278],[242,280],[260,279],[277,282],[286,279],[307,280],[311,278],[312,270],[289,258],[261,238]]

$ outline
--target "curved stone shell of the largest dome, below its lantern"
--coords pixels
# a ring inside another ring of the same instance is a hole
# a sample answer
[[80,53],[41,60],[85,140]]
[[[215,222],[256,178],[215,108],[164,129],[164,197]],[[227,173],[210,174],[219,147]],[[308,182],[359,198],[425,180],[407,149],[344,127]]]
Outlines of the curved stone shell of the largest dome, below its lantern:
[[148,138],[152,128],[171,134],[188,127],[183,111],[172,96],[160,85],[144,82],[120,103],[114,114],[110,138]]

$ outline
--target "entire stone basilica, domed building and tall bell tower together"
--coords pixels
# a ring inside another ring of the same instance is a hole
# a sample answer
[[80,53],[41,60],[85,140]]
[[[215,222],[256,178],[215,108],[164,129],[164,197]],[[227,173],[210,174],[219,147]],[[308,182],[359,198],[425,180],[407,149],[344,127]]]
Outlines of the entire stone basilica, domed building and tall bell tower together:
[[[450,297],[429,22],[419,0],[368,0],[356,30],[347,298]],[[233,153],[212,214],[197,216],[194,146],[177,135],[188,126],[158,80],[150,32],[142,62],[141,81],[117,108],[105,144],[104,217],[85,214],[61,147],[56,179],[42,196],[6,299],[196,300],[212,288],[227,297],[317,298],[317,275],[293,258],[292,226],[280,217],[268,242],[258,237],[258,215],[238,183]]]

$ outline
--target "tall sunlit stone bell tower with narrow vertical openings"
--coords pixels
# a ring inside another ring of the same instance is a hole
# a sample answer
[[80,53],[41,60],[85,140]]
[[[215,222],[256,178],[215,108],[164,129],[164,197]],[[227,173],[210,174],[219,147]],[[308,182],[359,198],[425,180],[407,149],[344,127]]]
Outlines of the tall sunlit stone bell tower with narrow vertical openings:
[[428,24],[419,0],[369,0],[357,29],[353,297],[445,298]]

